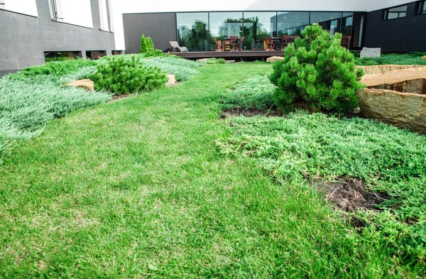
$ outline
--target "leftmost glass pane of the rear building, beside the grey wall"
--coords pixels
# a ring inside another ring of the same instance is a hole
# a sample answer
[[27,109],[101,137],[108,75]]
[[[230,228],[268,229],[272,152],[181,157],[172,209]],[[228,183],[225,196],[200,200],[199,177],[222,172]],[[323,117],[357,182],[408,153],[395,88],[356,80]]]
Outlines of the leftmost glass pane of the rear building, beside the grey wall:
[[178,42],[188,50],[209,50],[208,13],[177,13]]

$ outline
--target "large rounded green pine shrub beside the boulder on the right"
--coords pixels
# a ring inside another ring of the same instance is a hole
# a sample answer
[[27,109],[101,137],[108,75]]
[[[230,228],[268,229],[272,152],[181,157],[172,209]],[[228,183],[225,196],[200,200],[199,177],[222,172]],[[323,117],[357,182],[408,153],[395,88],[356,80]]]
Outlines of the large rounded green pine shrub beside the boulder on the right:
[[329,31],[314,23],[302,36],[285,48],[284,60],[273,65],[275,103],[286,107],[304,102],[310,109],[335,112],[356,109],[364,72],[355,69],[354,55],[340,45],[342,34],[330,38]]

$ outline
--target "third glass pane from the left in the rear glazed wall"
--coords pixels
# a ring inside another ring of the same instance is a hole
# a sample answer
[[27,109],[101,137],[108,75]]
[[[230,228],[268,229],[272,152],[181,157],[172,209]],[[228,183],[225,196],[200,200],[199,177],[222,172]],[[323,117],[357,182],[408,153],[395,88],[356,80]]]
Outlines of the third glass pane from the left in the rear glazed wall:
[[276,32],[275,12],[244,13],[243,48],[246,50],[265,49],[263,39]]

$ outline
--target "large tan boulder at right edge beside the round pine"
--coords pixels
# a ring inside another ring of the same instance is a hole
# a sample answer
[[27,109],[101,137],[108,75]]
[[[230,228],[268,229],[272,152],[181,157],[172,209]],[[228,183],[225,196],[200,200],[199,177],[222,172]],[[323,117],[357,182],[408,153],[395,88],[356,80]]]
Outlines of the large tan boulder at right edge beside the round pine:
[[366,88],[356,95],[367,118],[426,134],[426,95]]

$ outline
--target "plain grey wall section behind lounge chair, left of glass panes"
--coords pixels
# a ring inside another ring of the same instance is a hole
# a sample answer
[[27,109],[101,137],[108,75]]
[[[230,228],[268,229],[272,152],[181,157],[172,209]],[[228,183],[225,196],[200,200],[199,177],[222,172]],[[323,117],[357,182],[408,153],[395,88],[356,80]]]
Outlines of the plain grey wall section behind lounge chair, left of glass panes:
[[175,13],[124,14],[126,53],[139,53],[141,35],[151,37],[155,48],[170,48],[170,40],[178,40]]

